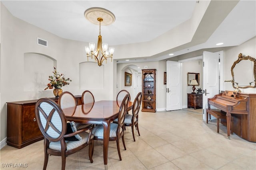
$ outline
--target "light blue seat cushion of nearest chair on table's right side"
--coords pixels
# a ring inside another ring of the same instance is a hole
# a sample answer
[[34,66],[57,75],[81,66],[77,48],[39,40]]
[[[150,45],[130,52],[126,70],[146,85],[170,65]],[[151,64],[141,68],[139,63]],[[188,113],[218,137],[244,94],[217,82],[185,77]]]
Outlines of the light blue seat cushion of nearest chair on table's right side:
[[[118,124],[117,123],[110,123],[110,133],[109,137],[116,137],[116,130],[117,130]],[[95,137],[103,137],[103,125],[96,125],[92,129],[92,134]],[[122,132],[122,128],[120,129],[120,132]]]

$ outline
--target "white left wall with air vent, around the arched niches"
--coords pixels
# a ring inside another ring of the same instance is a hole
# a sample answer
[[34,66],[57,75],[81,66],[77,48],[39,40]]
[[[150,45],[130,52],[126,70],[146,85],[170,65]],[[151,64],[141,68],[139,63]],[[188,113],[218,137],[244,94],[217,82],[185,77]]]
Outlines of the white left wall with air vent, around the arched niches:
[[[7,104],[22,100],[33,100],[43,97],[54,97],[52,90],[24,88],[27,77],[24,68],[28,63],[24,59],[27,53],[38,53],[47,55],[56,60],[57,71],[64,72],[66,77],[72,79],[70,85],[62,87],[63,91],[69,91],[74,95],[82,95],[84,90],[90,90],[95,100],[113,99],[113,62],[104,63],[104,75],[101,88],[90,89],[86,86],[80,88],[80,80],[93,81],[97,79],[88,70],[82,78],[80,77],[80,63],[87,61],[84,46],[87,43],[60,38],[52,33],[31,25],[25,21],[15,18],[1,5],[1,96],[0,96],[0,140],[6,138],[7,134]],[[37,45],[37,37],[48,41],[48,47]],[[41,66],[44,63],[30,63]],[[95,64],[95,63],[92,63]],[[96,68],[99,68],[98,66]],[[39,69],[39,67],[37,68]],[[50,70],[50,72],[53,70]],[[84,73],[84,72],[83,72]],[[34,78],[34,77],[33,77]],[[101,78],[101,77],[100,77]],[[48,76],[45,77],[45,85],[49,83]],[[25,90],[24,90],[25,89]]]

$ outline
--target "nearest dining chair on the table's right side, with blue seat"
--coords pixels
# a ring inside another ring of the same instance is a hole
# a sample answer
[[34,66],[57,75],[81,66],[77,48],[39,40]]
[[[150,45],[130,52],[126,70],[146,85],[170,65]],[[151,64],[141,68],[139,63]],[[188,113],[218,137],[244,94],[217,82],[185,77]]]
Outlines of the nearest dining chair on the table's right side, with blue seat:
[[[124,150],[126,150],[125,143],[124,143],[124,118],[126,115],[126,110],[129,102],[130,102],[130,95],[126,94],[122,103],[120,104],[120,108],[118,112],[118,123],[110,123],[109,141],[116,141],[116,146],[117,146],[120,160],[122,160],[121,154],[120,154],[120,146],[119,146],[119,141],[121,137],[124,145]],[[92,129],[92,134],[94,135],[94,140],[103,141],[103,135],[104,135],[103,125],[96,125]]]

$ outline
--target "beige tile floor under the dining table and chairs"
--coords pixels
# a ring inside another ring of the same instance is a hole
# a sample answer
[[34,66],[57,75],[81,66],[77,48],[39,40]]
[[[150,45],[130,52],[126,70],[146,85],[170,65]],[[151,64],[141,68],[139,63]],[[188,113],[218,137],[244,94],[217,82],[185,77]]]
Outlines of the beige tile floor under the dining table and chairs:
[[[109,144],[109,170],[255,170],[256,143],[240,137],[226,137],[226,127],[220,125],[216,133],[216,121],[202,121],[202,114],[193,109],[141,112],[140,136],[137,131],[133,141],[131,128],[126,128],[124,150],[120,141],[122,161],[118,158],[116,142]],[[103,170],[102,142],[95,141],[94,162],[88,158],[88,147],[70,155],[66,169]],[[41,170],[44,162],[43,140],[22,149],[5,146],[0,150],[1,170]],[[27,167],[5,167],[6,164],[23,164]],[[50,156],[48,170],[61,168],[60,156]]]

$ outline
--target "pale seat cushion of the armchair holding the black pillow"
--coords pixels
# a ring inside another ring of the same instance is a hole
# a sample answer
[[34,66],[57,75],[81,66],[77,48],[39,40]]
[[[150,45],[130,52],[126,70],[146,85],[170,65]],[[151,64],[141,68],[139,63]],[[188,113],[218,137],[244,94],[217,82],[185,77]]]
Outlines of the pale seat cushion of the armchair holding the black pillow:
[[[80,136],[82,137],[82,139],[79,140],[79,141],[65,141],[66,145],[67,145],[67,150],[72,150],[72,149],[75,149],[75,148],[85,144],[87,142],[89,133],[83,132],[83,133],[80,133]],[[91,135],[91,139],[93,137],[94,136]],[[49,148],[50,149],[54,149],[54,150],[61,150],[60,141],[58,141],[58,142],[50,142]]]

